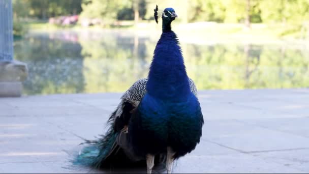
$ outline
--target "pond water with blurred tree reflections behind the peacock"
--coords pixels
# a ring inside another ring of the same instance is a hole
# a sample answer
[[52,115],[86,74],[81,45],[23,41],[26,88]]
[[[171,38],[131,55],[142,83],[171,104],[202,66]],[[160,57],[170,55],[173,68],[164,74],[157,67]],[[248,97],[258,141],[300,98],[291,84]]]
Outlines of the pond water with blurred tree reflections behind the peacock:
[[[123,92],[148,74],[156,40],[134,33],[58,32],[15,42],[26,62],[24,94]],[[199,90],[309,87],[309,50],[288,44],[182,43]]]

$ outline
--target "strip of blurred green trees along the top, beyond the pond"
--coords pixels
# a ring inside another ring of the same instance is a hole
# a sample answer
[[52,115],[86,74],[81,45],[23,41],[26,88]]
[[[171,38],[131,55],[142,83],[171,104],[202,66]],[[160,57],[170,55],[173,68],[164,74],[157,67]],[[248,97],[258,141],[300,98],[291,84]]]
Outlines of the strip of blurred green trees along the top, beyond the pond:
[[[173,7],[179,21],[288,22],[300,24],[309,20],[308,0],[13,0],[15,17],[47,19],[53,16],[80,14],[84,18],[102,19],[104,23],[115,20],[134,20],[135,4],[139,17],[153,18],[153,8],[159,12]],[[248,3],[249,11],[247,9]],[[161,14],[160,14],[161,15]]]

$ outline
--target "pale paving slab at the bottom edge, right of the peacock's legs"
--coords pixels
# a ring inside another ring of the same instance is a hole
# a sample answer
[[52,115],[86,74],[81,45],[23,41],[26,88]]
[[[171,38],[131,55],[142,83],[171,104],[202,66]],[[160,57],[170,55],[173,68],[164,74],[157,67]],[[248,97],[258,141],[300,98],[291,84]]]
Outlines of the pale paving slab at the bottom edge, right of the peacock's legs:
[[301,173],[300,169],[251,155],[188,155],[177,161],[175,173]]

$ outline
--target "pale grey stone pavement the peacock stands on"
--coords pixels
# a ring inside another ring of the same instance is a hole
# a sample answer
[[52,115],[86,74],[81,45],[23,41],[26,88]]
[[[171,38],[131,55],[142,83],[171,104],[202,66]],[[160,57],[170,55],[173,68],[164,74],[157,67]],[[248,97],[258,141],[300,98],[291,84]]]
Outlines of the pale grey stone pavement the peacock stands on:
[[[81,137],[105,131],[120,96],[0,98],[0,172],[89,172],[69,159]],[[199,100],[201,143],[174,173],[309,172],[309,89],[200,91]]]

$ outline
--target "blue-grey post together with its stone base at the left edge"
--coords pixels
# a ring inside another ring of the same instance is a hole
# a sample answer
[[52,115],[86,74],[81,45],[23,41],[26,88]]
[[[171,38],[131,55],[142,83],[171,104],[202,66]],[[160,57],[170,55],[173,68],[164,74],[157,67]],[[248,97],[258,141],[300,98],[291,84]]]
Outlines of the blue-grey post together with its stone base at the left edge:
[[12,0],[0,0],[0,97],[20,97],[26,64],[16,61],[13,49]]

